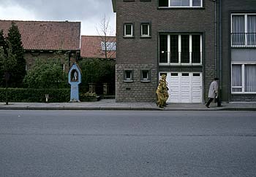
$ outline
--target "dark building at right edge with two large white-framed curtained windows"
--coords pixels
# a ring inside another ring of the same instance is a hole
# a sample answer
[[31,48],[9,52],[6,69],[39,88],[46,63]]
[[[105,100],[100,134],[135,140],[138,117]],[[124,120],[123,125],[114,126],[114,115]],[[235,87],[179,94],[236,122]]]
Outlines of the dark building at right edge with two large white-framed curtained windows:
[[222,98],[256,101],[256,1],[220,1]]

